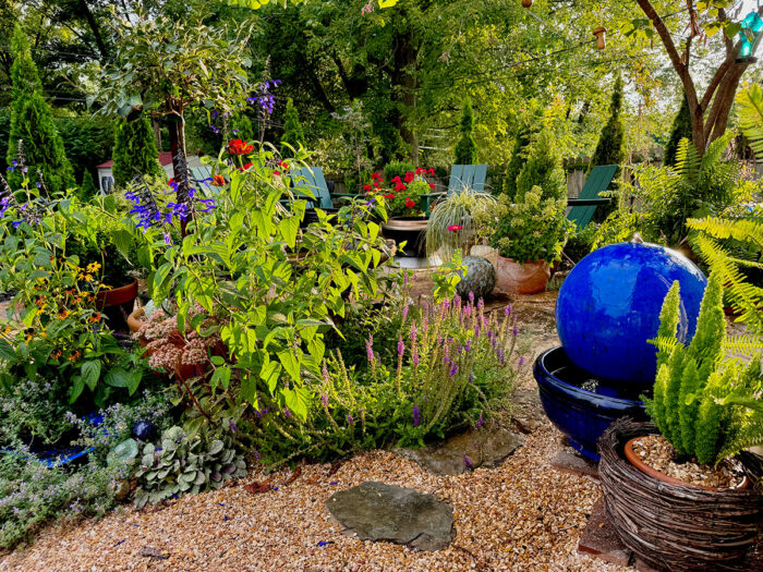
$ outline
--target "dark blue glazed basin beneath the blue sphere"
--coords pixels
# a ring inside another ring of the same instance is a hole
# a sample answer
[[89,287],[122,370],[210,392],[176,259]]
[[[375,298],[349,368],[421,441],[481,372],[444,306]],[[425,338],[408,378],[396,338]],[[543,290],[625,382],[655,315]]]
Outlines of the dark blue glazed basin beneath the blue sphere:
[[561,346],[542,353],[533,374],[546,416],[577,451],[593,461],[598,461],[596,441],[615,419],[646,421],[638,394],[617,394],[611,387],[595,384],[570,362]]

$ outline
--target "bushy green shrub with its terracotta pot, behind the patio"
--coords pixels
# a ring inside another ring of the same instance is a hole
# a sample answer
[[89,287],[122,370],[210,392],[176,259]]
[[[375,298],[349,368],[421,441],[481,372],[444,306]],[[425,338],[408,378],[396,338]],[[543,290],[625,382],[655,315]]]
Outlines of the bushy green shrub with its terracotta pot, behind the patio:
[[533,186],[517,203],[498,197],[495,212],[480,216],[481,233],[497,252],[496,288],[511,294],[543,292],[550,278],[549,264],[559,259],[574,226],[565,217],[564,198],[543,198]]

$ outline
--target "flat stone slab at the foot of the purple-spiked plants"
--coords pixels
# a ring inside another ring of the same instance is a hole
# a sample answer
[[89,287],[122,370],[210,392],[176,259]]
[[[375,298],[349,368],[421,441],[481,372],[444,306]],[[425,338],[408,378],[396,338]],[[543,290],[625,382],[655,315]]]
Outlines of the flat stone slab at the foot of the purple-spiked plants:
[[524,445],[524,437],[508,429],[471,429],[441,445],[393,452],[419,463],[435,475],[460,475],[477,467],[495,467]]

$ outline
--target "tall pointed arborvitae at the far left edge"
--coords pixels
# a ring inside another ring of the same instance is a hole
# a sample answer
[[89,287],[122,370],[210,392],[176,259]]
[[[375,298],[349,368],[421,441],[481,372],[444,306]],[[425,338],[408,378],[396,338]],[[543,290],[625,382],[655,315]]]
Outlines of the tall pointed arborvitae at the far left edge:
[[[12,165],[22,155],[28,168],[32,183],[39,182],[43,174],[48,192],[64,192],[75,184],[72,166],[66,159],[63,142],[56,130],[50,107],[43,97],[43,87],[37,66],[32,60],[29,42],[16,24],[11,41],[13,65],[11,66],[11,132],[8,141],[8,163]],[[19,186],[22,173],[16,169],[9,173],[12,186]]]

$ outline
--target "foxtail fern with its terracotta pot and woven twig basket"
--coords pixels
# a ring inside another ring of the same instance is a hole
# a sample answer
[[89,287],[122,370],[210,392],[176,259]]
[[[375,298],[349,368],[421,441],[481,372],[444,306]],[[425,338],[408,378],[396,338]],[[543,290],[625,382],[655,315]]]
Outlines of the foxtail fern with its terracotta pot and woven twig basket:
[[743,450],[763,441],[763,415],[744,398],[760,400],[761,363],[725,360],[734,340],[725,336],[720,273],[710,277],[688,345],[676,338],[678,289],[663,305],[654,395],[645,399],[654,424],[618,422],[600,441],[604,500],[623,544],[650,565],[751,570],[744,558],[758,540],[763,495],[761,465]]

